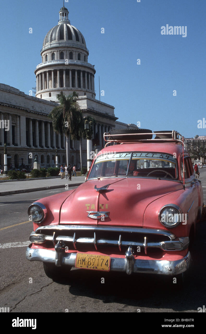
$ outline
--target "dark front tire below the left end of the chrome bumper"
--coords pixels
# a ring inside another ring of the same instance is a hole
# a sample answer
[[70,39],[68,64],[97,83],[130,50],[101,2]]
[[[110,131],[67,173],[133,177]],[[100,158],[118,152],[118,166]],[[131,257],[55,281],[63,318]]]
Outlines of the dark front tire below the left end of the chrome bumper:
[[43,262],[44,272],[54,282],[65,281],[69,278],[70,266],[56,267],[54,263]]

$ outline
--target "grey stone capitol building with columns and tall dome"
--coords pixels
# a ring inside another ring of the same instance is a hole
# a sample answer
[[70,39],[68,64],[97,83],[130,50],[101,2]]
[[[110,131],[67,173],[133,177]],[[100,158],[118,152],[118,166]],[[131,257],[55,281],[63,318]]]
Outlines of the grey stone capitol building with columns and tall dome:
[[[32,167],[37,157],[40,167],[55,166],[58,150],[59,165],[66,162],[65,136],[52,128],[50,111],[58,105],[56,95],[78,93],[77,102],[83,117],[95,119],[92,134],[97,149],[105,146],[104,132],[111,129],[137,128],[118,122],[114,107],[95,99],[95,68],[88,62],[89,51],[82,33],[70,24],[68,10],[59,11],[58,24],[46,34],[41,49],[42,62],[36,66],[36,97],[0,83],[0,120],[9,120],[9,131],[0,127],[0,166],[4,165],[4,143],[7,144],[7,165]],[[1,124],[3,124],[1,122]],[[69,162],[80,168],[79,141],[69,141]],[[86,140],[82,140],[82,166],[87,166]],[[32,158],[29,158],[32,153]]]

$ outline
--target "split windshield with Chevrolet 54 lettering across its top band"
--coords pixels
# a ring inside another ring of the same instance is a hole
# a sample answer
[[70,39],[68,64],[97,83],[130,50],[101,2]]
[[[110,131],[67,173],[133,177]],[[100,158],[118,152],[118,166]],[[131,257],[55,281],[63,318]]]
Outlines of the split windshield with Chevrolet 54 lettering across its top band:
[[177,179],[176,159],[159,152],[121,152],[99,155],[88,179],[136,176]]

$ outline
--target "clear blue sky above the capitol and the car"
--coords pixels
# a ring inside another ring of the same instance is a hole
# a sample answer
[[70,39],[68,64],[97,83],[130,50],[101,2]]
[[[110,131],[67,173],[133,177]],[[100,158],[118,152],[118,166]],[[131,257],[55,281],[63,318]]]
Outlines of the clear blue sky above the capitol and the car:
[[[1,0],[1,83],[25,94],[35,87],[43,39],[62,6],[63,0]],[[65,7],[95,64],[96,99],[100,76],[101,101],[115,107],[119,121],[141,122],[153,131],[175,129],[185,137],[206,135],[197,128],[206,118],[206,1],[69,0]],[[187,37],[162,35],[166,24],[187,26]]]

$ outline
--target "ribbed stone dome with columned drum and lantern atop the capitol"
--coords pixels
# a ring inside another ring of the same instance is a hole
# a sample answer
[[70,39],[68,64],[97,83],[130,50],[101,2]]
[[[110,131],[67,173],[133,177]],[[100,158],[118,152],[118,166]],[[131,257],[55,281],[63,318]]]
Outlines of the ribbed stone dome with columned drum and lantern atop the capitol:
[[95,99],[94,65],[88,62],[89,51],[82,33],[70,24],[68,10],[59,11],[58,24],[43,41],[42,62],[36,66],[36,97],[56,101],[56,95],[76,91]]

